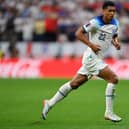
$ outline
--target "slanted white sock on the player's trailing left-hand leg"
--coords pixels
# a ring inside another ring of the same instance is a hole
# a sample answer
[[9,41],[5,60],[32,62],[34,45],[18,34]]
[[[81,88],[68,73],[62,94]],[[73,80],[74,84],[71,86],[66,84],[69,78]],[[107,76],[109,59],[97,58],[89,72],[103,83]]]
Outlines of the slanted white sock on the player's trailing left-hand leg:
[[57,102],[59,102],[65,96],[67,96],[71,90],[72,90],[72,87],[70,86],[69,82],[62,85],[57,91],[57,93],[48,101],[49,105],[54,106]]

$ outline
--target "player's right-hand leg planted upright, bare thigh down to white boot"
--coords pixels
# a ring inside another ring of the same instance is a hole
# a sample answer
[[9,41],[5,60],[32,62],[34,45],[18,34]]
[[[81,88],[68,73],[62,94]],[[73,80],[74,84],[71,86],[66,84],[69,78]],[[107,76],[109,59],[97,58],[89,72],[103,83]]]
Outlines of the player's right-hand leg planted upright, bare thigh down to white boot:
[[105,110],[105,119],[109,119],[115,122],[121,121],[121,118],[114,114],[113,112],[113,101],[115,97],[115,87],[118,83],[117,75],[106,66],[102,69],[98,75],[108,82],[105,95],[106,95],[106,110]]

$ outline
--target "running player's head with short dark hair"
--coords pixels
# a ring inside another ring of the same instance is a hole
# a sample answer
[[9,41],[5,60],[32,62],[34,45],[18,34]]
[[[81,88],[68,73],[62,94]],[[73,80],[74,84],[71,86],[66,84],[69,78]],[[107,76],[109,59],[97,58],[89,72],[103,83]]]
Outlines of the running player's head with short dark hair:
[[102,6],[103,16],[107,20],[111,20],[116,13],[116,5],[113,1],[105,1]]

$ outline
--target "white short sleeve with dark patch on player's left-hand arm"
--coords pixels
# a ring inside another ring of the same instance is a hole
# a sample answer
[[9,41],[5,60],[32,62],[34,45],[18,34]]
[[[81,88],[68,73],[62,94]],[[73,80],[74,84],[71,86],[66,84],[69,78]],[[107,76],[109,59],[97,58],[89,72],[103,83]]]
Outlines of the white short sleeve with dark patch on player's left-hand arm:
[[92,19],[89,21],[88,24],[83,25],[83,29],[85,32],[91,32],[93,30],[96,30],[97,28],[98,28],[98,24],[95,19]]

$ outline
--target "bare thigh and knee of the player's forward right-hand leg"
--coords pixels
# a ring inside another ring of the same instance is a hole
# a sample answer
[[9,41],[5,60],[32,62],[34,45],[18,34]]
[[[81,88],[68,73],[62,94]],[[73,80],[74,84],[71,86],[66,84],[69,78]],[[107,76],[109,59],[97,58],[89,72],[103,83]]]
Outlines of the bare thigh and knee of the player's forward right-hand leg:
[[118,83],[117,75],[108,66],[100,70],[98,76],[106,80],[107,82],[114,83],[114,84]]

